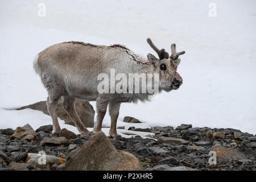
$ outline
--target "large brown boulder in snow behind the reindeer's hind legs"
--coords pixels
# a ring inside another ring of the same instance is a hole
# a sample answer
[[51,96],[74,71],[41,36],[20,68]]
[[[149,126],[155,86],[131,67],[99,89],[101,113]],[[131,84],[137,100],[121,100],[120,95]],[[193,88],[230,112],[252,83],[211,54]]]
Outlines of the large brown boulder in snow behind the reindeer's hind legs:
[[[93,109],[93,106],[90,105],[88,101],[76,99],[75,101],[75,108],[76,112],[79,115],[81,121],[84,123],[86,127],[93,127],[94,126],[94,114],[95,111]],[[36,102],[35,104],[19,107],[16,110],[22,110],[22,109],[34,109],[34,110],[40,110],[44,114],[49,115],[47,110],[46,101],[40,101]],[[69,118],[68,114],[63,109],[63,98],[61,98],[57,105],[57,117],[65,121],[65,124],[75,126],[72,119]]]

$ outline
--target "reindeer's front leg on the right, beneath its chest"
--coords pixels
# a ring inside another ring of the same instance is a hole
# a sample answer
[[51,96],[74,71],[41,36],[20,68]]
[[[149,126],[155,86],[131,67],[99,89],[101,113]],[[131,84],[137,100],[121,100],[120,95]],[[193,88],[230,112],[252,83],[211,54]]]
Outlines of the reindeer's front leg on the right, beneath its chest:
[[109,102],[109,115],[111,117],[111,126],[109,130],[109,135],[113,138],[117,138],[117,118],[119,115],[119,108],[120,108],[121,102]]

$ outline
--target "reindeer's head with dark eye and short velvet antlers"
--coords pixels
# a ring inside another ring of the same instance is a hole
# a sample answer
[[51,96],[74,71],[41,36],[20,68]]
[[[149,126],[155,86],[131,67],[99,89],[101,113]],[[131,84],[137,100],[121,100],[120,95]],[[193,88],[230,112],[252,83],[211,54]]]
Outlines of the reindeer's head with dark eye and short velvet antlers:
[[158,53],[159,59],[156,58],[151,53],[148,53],[147,58],[152,63],[156,73],[159,73],[159,88],[167,92],[171,90],[179,89],[183,80],[179,73],[177,73],[177,66],[180,63],[178,59],[179,55],[183,55],[185,51],[176,52],[176,45],[171,44],[171,56],[169,57],[168,52],[164,49],[158,49],[151,41],[150,38],[147,39],[150,47]]

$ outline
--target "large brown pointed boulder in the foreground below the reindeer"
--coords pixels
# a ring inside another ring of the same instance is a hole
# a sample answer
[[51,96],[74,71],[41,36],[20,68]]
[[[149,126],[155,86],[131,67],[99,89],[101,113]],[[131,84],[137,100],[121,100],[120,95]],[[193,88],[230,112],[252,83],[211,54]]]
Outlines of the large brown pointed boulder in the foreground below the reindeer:
[[142,170],[142,167],[133,154],[125,151],[118,152],[106,135],[100,131],[80,148],[71,152],[65,163],[65,170],[134,171]]

